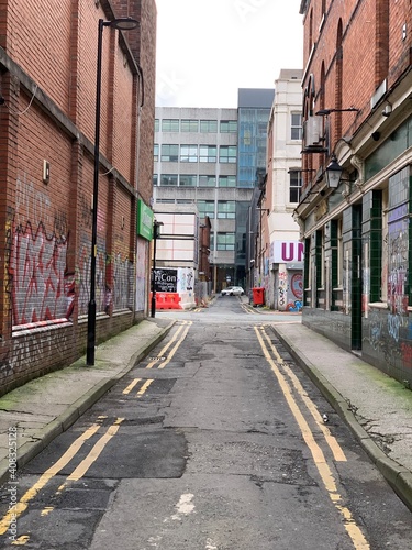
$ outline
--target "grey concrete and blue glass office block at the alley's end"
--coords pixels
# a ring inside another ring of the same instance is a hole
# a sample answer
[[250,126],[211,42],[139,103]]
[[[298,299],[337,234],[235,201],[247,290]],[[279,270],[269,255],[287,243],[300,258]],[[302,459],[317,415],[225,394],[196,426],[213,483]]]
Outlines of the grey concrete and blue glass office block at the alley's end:
[[211,219],[214,290],[245,284],[247,211],[266,167],[275,90],[240,89],[238,109],[156,109],[154,200],[196,204]]

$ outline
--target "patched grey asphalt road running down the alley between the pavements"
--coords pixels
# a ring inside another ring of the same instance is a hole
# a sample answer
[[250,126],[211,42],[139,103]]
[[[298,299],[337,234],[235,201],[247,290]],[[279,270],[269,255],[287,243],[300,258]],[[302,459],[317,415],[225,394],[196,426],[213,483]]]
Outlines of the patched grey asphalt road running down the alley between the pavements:
[[412,514],[270,329],[299,316],[157,315],[168,337],[20,472],[15,544],[412,548]]

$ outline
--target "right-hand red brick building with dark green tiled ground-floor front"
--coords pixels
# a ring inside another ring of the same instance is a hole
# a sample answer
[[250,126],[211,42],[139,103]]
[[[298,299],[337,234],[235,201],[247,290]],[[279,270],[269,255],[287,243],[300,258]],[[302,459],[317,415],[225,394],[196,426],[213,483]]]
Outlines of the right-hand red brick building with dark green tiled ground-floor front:
[[303,323],[412,384],[411,2],[300,12]]

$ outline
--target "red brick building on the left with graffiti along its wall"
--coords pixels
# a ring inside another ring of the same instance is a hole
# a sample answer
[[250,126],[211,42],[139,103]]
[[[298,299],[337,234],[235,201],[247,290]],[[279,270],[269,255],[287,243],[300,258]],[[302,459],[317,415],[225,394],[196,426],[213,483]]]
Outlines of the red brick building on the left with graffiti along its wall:
[[[147,311],[154,0],[8,0],[0,10],[0,393],[86,349],[99,19],[102,33],[97,209],[97,339]],[[142,233],[142,232],[141,232]]]

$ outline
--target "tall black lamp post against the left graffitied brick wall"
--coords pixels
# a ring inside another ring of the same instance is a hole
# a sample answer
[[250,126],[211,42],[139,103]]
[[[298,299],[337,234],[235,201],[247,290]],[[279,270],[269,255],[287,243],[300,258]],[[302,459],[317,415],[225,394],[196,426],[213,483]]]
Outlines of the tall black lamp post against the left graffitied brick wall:
[[98,194],[99,194],[99,145],[100,145],[100,96],[101,96],[101,54],[103,28],[111,26],[120,31],[136,29],[138,21],[131,18],[113,19],[104,21],[99,19],[98,33],[98,63],[96,79],[96,123],[94,123],[94,174],[93,174],[93,211],[91,221],[91,257],[90,257],[90,297],[87,317],[87,350],[86,364],[94,364],[96,348],[96,256],[97,256],[97,234],[98,234]]

